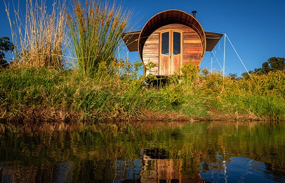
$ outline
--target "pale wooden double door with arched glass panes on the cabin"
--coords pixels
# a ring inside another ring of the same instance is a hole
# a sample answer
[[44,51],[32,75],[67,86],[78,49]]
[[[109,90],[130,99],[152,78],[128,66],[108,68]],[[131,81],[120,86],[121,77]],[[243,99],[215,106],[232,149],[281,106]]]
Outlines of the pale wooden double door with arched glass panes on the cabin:
[[182,32],[166,30],[160,33],[159,75],[171,75],[182,62]]

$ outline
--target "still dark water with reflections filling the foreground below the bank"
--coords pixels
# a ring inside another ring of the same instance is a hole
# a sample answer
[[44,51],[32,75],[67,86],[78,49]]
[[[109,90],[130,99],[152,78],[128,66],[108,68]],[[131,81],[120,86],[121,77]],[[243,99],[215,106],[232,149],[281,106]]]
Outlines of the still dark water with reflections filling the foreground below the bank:
[[0,124],[0,182],[285,182],[285,122]]

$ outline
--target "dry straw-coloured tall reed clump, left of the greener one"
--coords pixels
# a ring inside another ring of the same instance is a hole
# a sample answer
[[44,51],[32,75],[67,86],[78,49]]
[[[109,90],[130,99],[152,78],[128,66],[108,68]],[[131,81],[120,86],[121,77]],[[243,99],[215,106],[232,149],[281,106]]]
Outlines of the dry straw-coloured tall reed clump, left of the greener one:
[[50,8],[45,0],[27,0],[25,12],[20,10],[20,1],[16,6],[14,1],[12,4],[10,11],[9,4],[5,3],[16,46],[13,65],[60,68],[64,64],[66,47],[65,1],[54,0]]

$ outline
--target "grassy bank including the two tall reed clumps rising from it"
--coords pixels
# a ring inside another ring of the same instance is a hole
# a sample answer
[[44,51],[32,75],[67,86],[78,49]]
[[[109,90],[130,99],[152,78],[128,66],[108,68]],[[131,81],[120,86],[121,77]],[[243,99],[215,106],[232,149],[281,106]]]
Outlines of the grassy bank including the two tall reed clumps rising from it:
[[284,72],[236,81],[188,64],[164,87],[148,88],[139,62],[116,59],[130,11],[60,2],[27,1],[23,17],[6,6],[16,57],[0,69],[1,121],[285,120]]

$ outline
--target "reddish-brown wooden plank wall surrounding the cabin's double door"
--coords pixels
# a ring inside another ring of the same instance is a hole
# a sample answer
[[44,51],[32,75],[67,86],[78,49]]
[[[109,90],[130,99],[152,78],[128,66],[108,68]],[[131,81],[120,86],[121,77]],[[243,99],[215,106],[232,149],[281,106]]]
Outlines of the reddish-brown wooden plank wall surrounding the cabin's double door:
[[[158,75],[159,73],[159,55],[160,55],[160,32],[165,30],[180,30],[182,31],[182,64],[187,64],[189,61],[193,61],[195,64],[199,65],[203,48],[202,43],[199,38],[199,35],[195,30],[191,29],[188,26],[181,24],[170,24],[163,26],[150,34],[150,36],[146,39],[143,50],[142,50],[142,58],[143,62],[146,65],[148,62],[153,62],[157,66],[152,68],[149,71],[146,71],[146,75],[153,74]],[[177,59],[176,59],[177,60]],[[175,60],[175,61],[176,61]],[[180,65],[180,64],[175,64]]]

